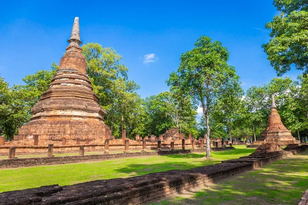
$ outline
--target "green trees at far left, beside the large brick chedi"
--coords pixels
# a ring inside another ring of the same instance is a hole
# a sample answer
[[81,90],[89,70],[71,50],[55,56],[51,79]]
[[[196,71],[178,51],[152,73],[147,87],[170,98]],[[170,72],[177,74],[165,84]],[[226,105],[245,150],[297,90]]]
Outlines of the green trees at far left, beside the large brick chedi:
[[23,78],[25,85],[9,87],[0,78],[0,127],[8,139],[17,134],[18,128],[29,121],[31,107],[40,99],[48,88],[57,66],[53,63],[51,70],[37,71]]

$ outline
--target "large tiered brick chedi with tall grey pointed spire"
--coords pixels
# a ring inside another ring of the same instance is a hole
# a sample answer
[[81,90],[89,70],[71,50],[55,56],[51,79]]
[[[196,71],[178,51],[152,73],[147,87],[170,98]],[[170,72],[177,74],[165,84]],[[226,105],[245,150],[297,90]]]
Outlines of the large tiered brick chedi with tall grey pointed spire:
[[104,142],[105,111],[92,92],[86,72],[85,57],[79,46],[82,42],[78,17],[68,43],[49,89],[32,108],[30,122],[14,136],[15,143],[33,145],[33,135],[38,135],[38,145],[62,144],[62,138],[66,138],[66,144],[76,144],[78,139],[87,139],[90,144]]

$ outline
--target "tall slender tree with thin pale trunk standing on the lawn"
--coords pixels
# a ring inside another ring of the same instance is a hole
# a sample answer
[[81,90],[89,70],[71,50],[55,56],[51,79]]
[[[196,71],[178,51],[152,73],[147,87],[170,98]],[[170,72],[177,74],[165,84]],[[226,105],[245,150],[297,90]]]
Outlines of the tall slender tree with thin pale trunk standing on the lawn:
[[172,72],[167,83],[183,95],[191,97],[195,105],[200,105],[206,123],[206,158],[210,158],[209,116],[220,95],[226,92],[228,81],[238,78],[233,66],[228,65],[229,52],[218,41],[201,36],[194,49],[182,54],[180,67]]

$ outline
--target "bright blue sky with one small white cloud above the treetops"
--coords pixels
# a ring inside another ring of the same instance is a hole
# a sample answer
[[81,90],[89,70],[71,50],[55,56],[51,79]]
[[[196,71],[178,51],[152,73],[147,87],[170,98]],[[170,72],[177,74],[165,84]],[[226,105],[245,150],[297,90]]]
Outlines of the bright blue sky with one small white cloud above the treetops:
[[[10,85],[59,64],[75,16],[83,43],[113,47],[129,68],[142,97],[168,90],[181,53],[201,35],[222,42],[242,88],[276,76],[261,45],[264,25],[277,15],[271,0],[258,1],[3,1],[0,8],[0,74]],[[301,73],[292,70],[293,77]]]

